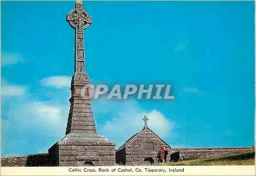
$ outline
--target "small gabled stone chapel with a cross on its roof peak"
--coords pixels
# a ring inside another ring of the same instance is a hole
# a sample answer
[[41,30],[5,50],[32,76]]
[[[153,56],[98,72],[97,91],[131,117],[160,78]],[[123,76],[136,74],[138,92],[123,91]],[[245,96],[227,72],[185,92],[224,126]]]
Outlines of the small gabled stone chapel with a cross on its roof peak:
[[[145,125],[138,133],[129,138],[121,147],[116,150],[116,163],[122,165],[134,165],[143,163],[153,164],[158,162],[157,154],[161,146],[170,151],[170,146],[157,136],[147,126],[148,118],[143,118]],[[167,161],[170,160],[170,154]]]

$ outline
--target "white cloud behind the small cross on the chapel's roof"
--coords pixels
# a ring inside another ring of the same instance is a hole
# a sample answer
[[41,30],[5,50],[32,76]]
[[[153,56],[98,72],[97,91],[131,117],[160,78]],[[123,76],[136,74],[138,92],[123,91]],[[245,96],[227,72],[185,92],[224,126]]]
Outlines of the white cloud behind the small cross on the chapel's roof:
[[118,114],[102,127],[102,133],[112,139],[117,139],[117,147],[140,131],[144,126],[144,115],[148,117],[148,127],[162,139],[169,137],[174,123],[169,121],[161,112],[153,109],[146,111],[138,106],[135,100],[122,102]]

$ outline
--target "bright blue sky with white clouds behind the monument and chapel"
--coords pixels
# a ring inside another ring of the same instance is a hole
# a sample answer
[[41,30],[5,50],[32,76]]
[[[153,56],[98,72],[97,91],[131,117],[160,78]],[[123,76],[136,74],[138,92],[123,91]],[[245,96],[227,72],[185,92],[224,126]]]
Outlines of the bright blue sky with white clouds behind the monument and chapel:
[[[175,100],[93,100],[120,146],[148,125],[174,147],[254,142],[254,2],[83,2],[93,83],[172,84]],[[74,2],[1,2],[2,155],[47,152],[65,135]]]

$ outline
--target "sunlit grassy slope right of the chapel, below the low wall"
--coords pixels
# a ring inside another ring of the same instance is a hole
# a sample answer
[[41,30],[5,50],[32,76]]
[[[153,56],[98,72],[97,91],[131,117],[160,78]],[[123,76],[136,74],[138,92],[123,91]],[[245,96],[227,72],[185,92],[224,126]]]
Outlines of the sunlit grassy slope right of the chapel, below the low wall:
[[216,165],[255,165],[254,151],[234,151],[225,155],[215,155],[206,158],[169,162],[168,166],[216,166]]

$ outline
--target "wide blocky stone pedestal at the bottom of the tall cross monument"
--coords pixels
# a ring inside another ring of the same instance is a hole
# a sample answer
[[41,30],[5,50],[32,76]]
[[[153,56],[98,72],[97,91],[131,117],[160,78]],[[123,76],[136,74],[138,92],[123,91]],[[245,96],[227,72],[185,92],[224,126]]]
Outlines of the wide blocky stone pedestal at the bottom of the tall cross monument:
[[68,134],[48,150],[50,166],[110,166],[115,143],[98,134]]

